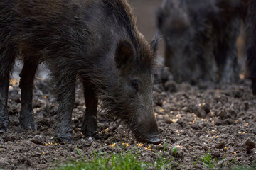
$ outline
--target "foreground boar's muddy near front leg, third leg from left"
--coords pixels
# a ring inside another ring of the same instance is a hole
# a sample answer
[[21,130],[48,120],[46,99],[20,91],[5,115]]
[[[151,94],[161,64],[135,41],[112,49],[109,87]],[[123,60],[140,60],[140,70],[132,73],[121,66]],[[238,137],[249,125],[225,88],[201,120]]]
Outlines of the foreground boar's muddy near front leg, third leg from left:
[[75,101],[75,77],[76,75],[64,73],[56,76],[59,103],[58,123],[55,128],[56,142],[73,142],[72,111]]

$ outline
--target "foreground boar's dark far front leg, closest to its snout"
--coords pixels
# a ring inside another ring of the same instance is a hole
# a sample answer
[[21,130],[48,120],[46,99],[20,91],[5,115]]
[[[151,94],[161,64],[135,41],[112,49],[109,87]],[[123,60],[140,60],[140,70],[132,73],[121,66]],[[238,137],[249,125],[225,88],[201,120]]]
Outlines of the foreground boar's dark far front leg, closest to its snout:
[[85,115],[81,132],[87,137],[95,137],[97,132],[97,104],[98,99],[91,86],[84,83]]

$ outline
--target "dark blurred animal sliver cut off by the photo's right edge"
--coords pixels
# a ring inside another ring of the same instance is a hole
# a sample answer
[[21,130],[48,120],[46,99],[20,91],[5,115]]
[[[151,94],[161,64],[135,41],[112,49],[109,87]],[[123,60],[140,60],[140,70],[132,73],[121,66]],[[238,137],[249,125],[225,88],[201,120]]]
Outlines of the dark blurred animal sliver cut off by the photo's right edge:
[[252,80],[252,93],[256,95],[256,1],[250,1],[247,16],[247,32],[250,33],[247,47],[247,69]]

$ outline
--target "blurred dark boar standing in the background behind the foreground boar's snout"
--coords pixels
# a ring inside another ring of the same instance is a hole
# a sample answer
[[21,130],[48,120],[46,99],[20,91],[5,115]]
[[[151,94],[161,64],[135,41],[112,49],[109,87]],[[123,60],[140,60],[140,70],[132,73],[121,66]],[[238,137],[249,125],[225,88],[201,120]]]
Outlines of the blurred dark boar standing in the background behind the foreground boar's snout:
[[[241,4],[237,0],[164,0],[157,23],[166,41],[165,64],[176,81],[238,81]],[[230,15],[237,9],[238,14]]]

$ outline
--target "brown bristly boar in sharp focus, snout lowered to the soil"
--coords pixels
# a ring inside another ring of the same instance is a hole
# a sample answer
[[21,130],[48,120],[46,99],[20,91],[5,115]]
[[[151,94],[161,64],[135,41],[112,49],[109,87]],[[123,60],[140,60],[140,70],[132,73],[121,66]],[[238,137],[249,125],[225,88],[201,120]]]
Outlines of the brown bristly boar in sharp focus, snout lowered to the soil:
[[[0,30],[5,30],[0,37],[4,42],[0,46],[0,74],[9,75],[15,55],[24,62],[21,128],[36,129],[31,106],[33,77],[37,65],[46,62],[55,77],[60,103],[55,133],[59,142],[72,139],[77,76],[84,85],[85,135],[94,136],[97,131],[100,99],[102,108],[124,120],[138,140],[161,141],[152,106],[158,40],[151,43],[152,47],[146,42],[127,1],[4,0],[0,2],[0,16]],[[0,79],[9,81],[4,77]],[[6,89],[6,84],[0,86]],[[0,94],[6,99],[6,93]],[[5,109],[6,103],[0,110],[0,118],[4,118],[0,128],[6,129]]]

